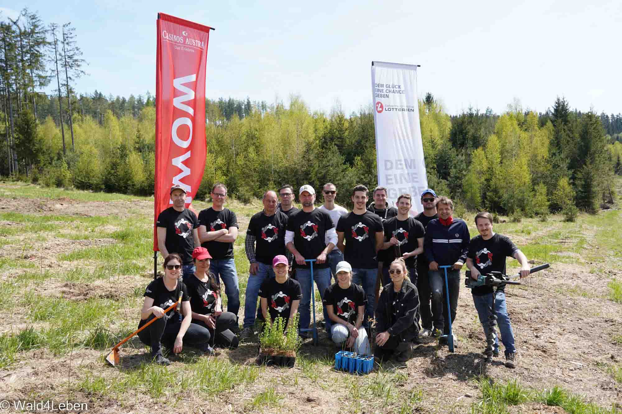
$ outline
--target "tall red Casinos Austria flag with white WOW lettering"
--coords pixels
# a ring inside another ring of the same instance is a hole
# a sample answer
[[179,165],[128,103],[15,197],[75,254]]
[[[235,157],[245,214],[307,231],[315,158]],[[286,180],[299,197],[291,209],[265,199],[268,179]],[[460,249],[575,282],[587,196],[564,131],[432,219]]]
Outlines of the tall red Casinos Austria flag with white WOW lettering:
[[157,216],[172,204],[170,187],[186,190],[186,207],[197,193],[205,168],[205,67],[210,27],[168,14],[157,19],[156,188]]

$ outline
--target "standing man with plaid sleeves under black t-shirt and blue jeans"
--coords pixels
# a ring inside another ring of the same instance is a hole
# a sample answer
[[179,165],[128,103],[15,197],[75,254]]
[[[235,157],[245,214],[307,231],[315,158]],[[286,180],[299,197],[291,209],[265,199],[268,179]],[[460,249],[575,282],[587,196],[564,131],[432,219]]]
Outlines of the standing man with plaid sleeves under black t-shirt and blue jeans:
[[257,297],[261,284],[274,277],[272,259],[285,255],[285,229],[287,216],[276,209],[276,192],[266,191],[262,198],[264,209],[251,217],[246,231],[246,257],[251,264],[244,300],[244,328],[240,340],[253,336]]

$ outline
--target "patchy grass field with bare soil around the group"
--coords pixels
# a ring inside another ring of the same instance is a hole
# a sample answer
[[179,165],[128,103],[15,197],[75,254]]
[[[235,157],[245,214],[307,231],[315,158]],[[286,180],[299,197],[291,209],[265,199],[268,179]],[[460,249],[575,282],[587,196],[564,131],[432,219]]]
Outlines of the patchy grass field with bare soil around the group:
[[[227,206],[240,224],[243,296],[244,237],[261,203]],[[471,236],[474,215],[465,217]],[[575,223],[550,216],[494,225],[533,265],[551,264],[506,289],[515,370],[503,358],[483,364],[484,335],[465,288],[454,353],[420,345],[407,364],[376,364],[369,375],[333,370],[337,349],[322,329],[293,369],[257,366],[253,344],[209,358],[185,347],[160,367],[137,338],[113,368],[103,357],[136,328],[153,277],[153,198],[0,183],[0,395],[81,402],[94,413],[621,413],[621,218],[611,209]],[[509,261],[508,272],[516,269]]]

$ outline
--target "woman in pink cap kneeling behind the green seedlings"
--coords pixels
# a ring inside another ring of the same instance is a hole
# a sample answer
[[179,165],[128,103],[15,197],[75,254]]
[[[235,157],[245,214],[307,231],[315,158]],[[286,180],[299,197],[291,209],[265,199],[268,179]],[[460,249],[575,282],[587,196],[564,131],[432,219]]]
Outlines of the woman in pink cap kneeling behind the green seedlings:
[[272,259],[272,270],[274,270],[274,278],[265,280],[259,288],[261,313],[266,321],[269,313],[271,322],[281,316],[286,321],[285,329],[287,329],[287,325],[298,313],[302,288],[297,280],[289,277],[289,262],[284,255],[279,254]]

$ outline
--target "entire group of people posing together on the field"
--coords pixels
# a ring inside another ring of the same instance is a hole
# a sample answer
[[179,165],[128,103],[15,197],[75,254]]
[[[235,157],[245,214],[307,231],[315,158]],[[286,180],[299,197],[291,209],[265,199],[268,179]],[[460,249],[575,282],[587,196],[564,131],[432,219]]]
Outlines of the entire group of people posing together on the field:
[[[290,185],[278,193],[264,193],[264,208],[252,216],[246,231],[250,267],[240,331],[233,257],[238,221],[224,207],[226,186],[213,186],[213,204],[198,217],[185,208],[185,190],[172,186],[173,205],[157,218],[164,277],[149,284],[141,310],[141,326],[159,318],[139,334],[151,346],[156,362],[169,363],[162,345],[177,353],[184,338],[205,352],[213,352],[215,346],[237,347],[239,341],[253,340],[258,319],[269,322],[281,316],[291,321],[299,313],[299,335],[308,338],[313,281],[322,297],[324,328],[335,344],[363,355],[371,354],[375,344],[378,359],[403,362],[411,357],[414,344],[448,333],[448,307],[453,321],[463,265],[476,279],[492,271],[505,273],[506,257],[514,257],[521,263],[521,277],[529,274],[525,255],[508,237],[493,232],[490,213],[476,215],[480,235],[471,239],[465,221],[453,218],[452,200],[432,189],[420,195],[424,209],[415,217],[409,216],[411,195],[402,194],[396,206],[389,206],[387,190],[381,186],[374,188],[369,206],[368,188],[355,186],[350,212],[335,203],[333,183],[325,184],[322,193],[324,203],[316,208],[315,189],[301,186],[301,209],[294,206]],[[449,306],[442,266],[450,266]],[[478,287],[471,293],[485,331],[494,301],[506,366],[514,367],[516,347],[503,286],[494,291]],[[180,306],[164,313],[179,297]],[[370,329],[373,338],[368,338]],[[493,355],[498,354],[495,338]]]

